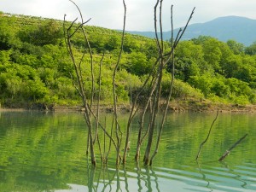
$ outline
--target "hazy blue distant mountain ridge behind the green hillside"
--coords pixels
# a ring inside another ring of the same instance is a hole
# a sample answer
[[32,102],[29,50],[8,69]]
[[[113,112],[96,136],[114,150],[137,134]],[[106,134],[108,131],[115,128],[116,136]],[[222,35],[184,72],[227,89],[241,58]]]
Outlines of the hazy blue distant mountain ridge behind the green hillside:
[[[175,34],[178,32],[175,29]],[[154,32],[130,32],[132,34],[154,38]],[[164,32],[165,40],[170,39],[171,31]],[[246,46],[256,41],[256,20],[239,16],[219,17],[206,23],[196,23],[189,25],[184,33],[183,39],[197,38],[199,36],[211,36],[226,42],[229,39]]]

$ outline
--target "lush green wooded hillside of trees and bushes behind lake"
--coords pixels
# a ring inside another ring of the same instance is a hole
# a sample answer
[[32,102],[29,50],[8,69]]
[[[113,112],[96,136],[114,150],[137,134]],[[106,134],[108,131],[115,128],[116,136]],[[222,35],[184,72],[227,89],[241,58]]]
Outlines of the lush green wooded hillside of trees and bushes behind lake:
[[[97,26],[85,28],[96,77],[104,55],[102,78],[96,79],[96,86],[101,81],[101,103],[108,104],[113,102],[112,71],[119,56],[122,32]],[[119,103],[127,104],[152,71],[158,49],[151,38],[125,33],[124,40],[116,73],[116,94]],[[78,32],[72,43],[73,55],[81,57],[86,49],[83,34]],[[166,41],[164,46],[170,47],[170,42]],[[83,75],[90,90],[90,70],[86,70],[90,67],[89,52],[84,55],[87,57]],[[163,74],[162,97],[167,97],[169,85],[165,82],[174,73],[172,100],[256,103],[256,42],[246,47],[231,39],[221,42],[205,36],[183,40],[175,49],[174,72],[171,63]],[[80,105],[74,76],[61,20],[0,12],[0,106]]]

